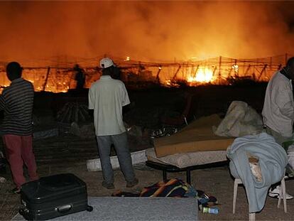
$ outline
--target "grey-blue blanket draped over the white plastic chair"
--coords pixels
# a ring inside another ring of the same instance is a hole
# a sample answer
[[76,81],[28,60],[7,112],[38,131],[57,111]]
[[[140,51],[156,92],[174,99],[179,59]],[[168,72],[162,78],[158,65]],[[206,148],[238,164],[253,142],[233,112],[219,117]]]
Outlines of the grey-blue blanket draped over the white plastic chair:
[[[262,181],[258,182],[252,175],[248,153],[259,158]],[[239,137],[227,150],[231,159],[229,168],[232,176],[241,178],[249,201],[249,212],[259,212],[266,201],[268,188],[279,182],[287,165],[285,150],[275,142],[272,136],[261,133]]]

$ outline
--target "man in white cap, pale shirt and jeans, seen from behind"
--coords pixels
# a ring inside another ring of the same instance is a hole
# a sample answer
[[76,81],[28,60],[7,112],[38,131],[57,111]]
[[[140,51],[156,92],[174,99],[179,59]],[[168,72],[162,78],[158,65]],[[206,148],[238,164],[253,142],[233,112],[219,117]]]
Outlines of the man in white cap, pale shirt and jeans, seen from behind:
[[94,109],[94,127],[102,165],[104,188],[114,188],[114,172],[110,163],[111,144],[114,144],[119,166],[126,179],[126,187],[138,184],[131,163],[122,107],[130,104],[124,82],[114,80],[111,75],[116,67],[110,58],[100,60],[102,76],[89,89],[89,109]]

